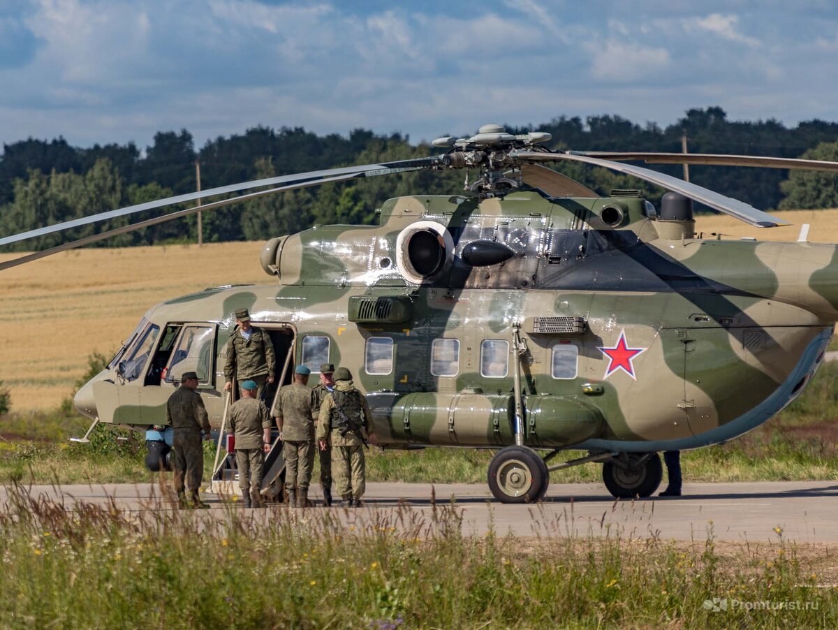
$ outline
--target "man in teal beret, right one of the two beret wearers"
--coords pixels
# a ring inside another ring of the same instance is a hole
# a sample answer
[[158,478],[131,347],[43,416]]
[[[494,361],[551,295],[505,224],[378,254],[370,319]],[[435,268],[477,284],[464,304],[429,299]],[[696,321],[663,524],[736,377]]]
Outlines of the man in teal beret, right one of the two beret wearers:
[[297,365],[294,382],[279,390],[272,415],[277,421],[285,458],[285,487],[288,505],[308,508],[308,483],[312,478],[313,451],[313,395],[308,389],[311,370]]

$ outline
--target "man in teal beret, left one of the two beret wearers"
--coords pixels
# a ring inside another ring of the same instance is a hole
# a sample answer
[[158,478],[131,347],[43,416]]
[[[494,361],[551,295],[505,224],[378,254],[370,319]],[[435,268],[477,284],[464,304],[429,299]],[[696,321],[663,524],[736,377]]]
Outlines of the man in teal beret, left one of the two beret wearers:
[[265,453],[271,448],[271,416],[265,403],[256,400],[256,389],[255,381],[246,380],[241,384],[241,399],[230,406],[230,433],[235,435],[235,463],[246,508],[262,507],[262,468]]

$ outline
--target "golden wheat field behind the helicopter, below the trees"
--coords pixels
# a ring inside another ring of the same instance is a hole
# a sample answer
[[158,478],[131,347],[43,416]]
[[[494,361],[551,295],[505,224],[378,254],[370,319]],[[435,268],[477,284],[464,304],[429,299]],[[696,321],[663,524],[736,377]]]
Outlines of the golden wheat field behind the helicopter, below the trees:
[[[760,230],[702,216],[696,230],[761,240],[838,242],[838,210],[775,213],[789,227]],[[270,284],[261,242],[68,251],[0,271],[0,381],[16,411],[53,409],[73,393],[92,352],[109,354],[158,302],[224,284]],[[8,260],[18,255],[0,255]]]

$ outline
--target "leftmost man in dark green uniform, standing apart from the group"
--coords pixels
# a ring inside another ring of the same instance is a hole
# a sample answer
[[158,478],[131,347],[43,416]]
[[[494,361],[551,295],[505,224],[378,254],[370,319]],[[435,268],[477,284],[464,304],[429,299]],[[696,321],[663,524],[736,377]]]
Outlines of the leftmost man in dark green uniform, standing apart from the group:
[[[204,440],[209,440],[209,417],[198,389],[198,374],[184,372],[180,387],[174,390],[166,403],[166,423],[172,426],[174,440],[174,489],[182,507],[207,509],[198,491],[204,477]],[[184,494],[184,474],[189,486],[189,501]]]

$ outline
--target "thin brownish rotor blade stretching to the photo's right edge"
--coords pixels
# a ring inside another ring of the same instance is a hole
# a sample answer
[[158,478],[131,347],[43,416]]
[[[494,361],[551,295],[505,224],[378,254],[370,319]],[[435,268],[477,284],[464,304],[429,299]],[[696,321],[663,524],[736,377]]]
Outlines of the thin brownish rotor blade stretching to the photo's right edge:
[[655,153],[572,151],[572,155],[603,158],[618,162],[642,161],[652,164],[716,164],[719,166],[748,166],[753,168],[791,168],[809,171],[838,173],[838,162],[803,160],[799,158],[768,158],[753,155],[726,155],[724,153]]

